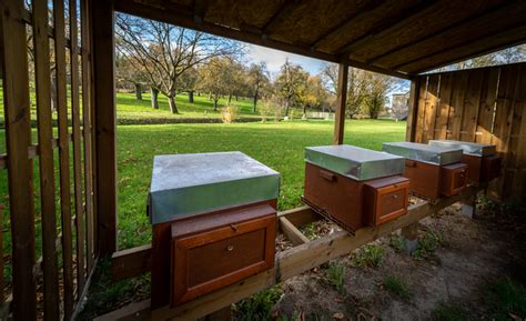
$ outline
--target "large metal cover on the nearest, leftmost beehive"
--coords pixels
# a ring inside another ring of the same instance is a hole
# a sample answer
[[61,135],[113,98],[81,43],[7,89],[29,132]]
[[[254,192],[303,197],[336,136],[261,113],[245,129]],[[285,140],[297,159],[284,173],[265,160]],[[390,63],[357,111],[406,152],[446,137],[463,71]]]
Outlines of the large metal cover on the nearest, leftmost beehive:
[[272,200],[279,192],[280,173],[239,151],[155,156],[150,221]]

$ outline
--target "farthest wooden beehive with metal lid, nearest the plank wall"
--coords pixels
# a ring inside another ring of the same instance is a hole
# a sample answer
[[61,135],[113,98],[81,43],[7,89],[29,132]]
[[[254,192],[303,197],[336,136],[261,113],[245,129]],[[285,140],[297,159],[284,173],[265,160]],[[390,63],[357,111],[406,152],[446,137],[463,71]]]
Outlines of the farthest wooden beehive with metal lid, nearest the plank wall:
[[467,182],[478,187],[500,175],[500,157],[496,146],[456,140],[429,140],[431,146],[459,148],[462,162],[467,164]]

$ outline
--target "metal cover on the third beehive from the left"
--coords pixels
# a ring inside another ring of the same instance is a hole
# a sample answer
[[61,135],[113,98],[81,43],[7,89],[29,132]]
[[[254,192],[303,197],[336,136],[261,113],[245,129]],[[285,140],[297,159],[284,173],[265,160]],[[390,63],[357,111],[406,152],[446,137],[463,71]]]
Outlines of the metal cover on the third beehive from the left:
[[462,149],[429,146],[417,142],[384,142],[384,151],[409,160],[446,165],[462,161]]

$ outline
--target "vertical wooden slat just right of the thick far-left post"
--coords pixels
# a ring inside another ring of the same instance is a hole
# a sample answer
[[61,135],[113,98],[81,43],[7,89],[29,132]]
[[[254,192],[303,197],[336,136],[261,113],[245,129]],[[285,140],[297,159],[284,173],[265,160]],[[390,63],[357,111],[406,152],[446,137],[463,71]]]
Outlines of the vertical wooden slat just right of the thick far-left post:
[[45,320],[59,320],[59,270],[53,162],[53,123],[51,119],[51,72],[48,36],[48,6],[33,2],[34,72],[39,136],[40,194],[42,217],[42,271]]

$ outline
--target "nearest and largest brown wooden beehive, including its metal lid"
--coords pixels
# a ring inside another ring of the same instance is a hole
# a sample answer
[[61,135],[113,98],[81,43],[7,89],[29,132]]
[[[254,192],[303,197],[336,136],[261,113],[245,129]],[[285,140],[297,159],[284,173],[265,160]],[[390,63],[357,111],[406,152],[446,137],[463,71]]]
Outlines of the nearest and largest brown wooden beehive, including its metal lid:
[[149,195],[152,308],[274,265],[280,174],[241,152],[158,156]]

